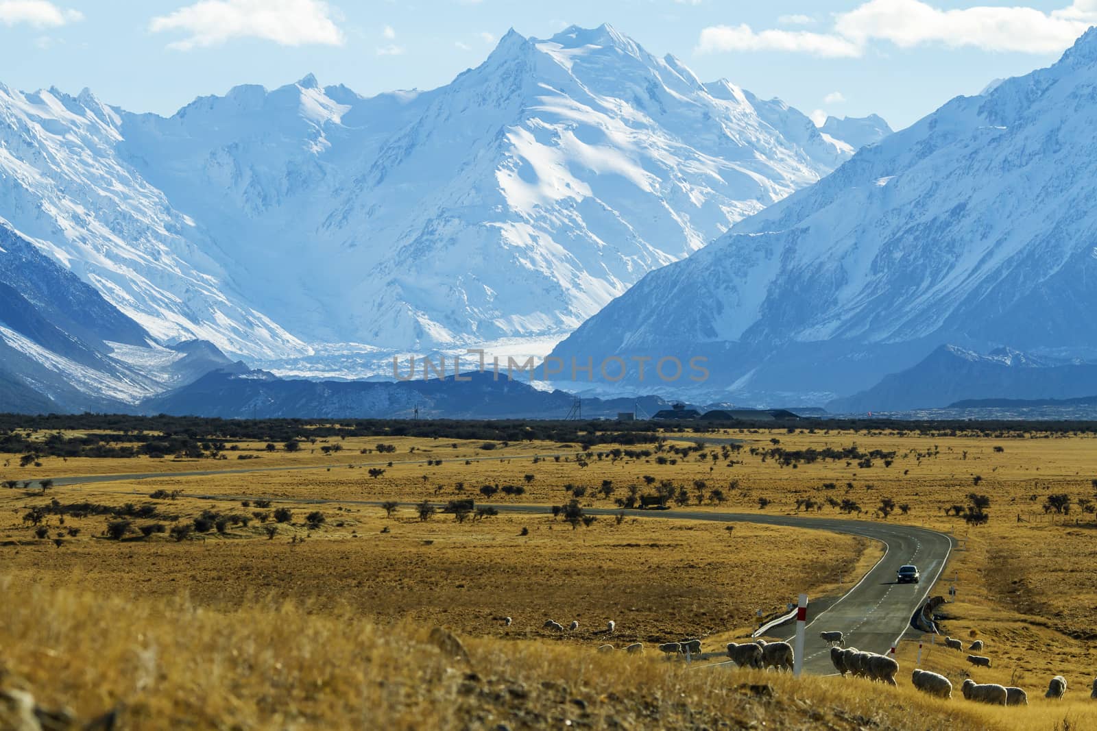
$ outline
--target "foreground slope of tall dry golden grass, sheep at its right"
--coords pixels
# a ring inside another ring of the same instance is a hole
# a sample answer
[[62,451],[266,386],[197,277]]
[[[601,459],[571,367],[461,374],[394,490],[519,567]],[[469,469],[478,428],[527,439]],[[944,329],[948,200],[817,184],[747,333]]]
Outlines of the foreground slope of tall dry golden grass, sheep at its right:
[[[0,687],[55,717],[113,713],[122,729],[1052,728],[1017,724],[1036,709],[995,712],[909,687],[698,670],[651,650],[454,641],[420,623],[293,603],[220,613],[10,579],[0,603]],[[0,728],[18,728],[13,717],[0,699]]]

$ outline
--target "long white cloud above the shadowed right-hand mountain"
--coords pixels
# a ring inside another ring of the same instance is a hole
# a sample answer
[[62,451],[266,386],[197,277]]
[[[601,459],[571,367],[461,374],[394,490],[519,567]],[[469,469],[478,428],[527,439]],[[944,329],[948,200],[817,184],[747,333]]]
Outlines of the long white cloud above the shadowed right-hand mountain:
[[[780,22],[806,18],[782,15]],[[808,19],[810,20],[810,19]],[[863,56],[874,41],[901,48],[943,45],[991,52],[1060,53],[1097,24],[1097,0],[1074,0],[1060,10],[973,5],[942,10],[923,0],[869,0],[835,15],[828,33],[766,30],[748,25],[703,28],[699,52],[783,50],[825,58]]]

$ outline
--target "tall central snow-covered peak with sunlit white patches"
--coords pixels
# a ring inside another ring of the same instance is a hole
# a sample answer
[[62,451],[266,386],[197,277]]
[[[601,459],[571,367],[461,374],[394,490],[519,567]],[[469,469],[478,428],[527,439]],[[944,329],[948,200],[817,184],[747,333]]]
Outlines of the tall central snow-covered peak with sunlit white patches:
[[852,153],[609,26],[512,31],[426,93],[309,76],[122,118],[122,155],[249,301],[309,341],[396,350],[559,338]]

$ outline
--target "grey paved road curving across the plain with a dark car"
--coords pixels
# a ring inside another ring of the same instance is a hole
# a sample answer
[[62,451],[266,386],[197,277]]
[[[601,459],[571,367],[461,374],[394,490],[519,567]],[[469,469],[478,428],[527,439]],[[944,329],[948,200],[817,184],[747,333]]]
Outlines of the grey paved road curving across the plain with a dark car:
[[[516,455],[517,457],[517,455]],[[479,459],[499,459],[484,457]],[[206,472],[169,472],[147,475],[100,475],[89,477],[69,477],[55,480],[58,486],[75,486],[92,482],[110,482],[115,480],[162,479],[171,477],[194,477],[206,475],[240,475],[245,472],[282,471],[309,468],[253,468]],[[125,494],[132,494],[129,492]],[[256,495],[196,495],[210,500],[239,501]],[[278,498],[279,502],[296,502],[306,504],[343,504],[343,505],[377,505],[376,501],[364,500],[310,500]],[[495,504],[500,511],[520,513],[545,513],[546,505],[513,505]],[[612,516],[620,511],[609,509],[586,509],[590,515]],[[829,650],[819,638],[823,630],[840,630],[846,636],[847,647],[857,647],[871,652],[887,652],[898,638],[909,627],[911,617],[923,605],[929,590],[937,582],[945,569],[952,541],[949,536],[897,523],[873,523],[839,518],[803,517],[796,515],[762,515],[758,513],[723,513],[691,510],[670,511],[624,511],[629,516],[655,519],[691,519],[715,521],[721,523],[759,523],[765,525],[790,526],[832,530],[879,540],[886,547],[883,558],[840,599],[818,614],[807,609],[807,638],[805,643],[804,670],[817,674],[830,674]],[[795,544],[789,546],[795,551]],[[914,563],[921,571],[921,583],[896,584],[895,572],[905,563]],[[789,587],[790,599],[795,598],[796,587]],[[782,639],[789,639],[792,633],[791,624],[776,628],[773,631]]]

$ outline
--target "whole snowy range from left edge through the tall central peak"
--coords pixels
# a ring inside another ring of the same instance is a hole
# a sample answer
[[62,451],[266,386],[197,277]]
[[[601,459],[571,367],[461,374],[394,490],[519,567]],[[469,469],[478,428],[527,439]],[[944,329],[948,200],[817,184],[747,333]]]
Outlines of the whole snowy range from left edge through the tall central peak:
[[0,87],[0,216],[160,345],[338,376],[545,352],[848,159],[842,134],[608,25],[510,32],[445,87],[370,99],[307,76],[161,117]]

